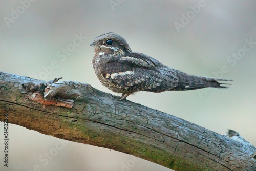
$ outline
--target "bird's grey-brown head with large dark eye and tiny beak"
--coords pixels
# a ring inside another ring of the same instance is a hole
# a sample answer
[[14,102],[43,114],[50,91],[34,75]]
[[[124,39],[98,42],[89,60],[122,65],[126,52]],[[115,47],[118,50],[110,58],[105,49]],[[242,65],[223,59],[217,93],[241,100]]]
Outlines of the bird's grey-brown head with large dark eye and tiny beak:
[[131,49],[126,40],[116,33],[101,34],[94,39],[90,46],[95,46],[95,55],[122,55],[131,53]]

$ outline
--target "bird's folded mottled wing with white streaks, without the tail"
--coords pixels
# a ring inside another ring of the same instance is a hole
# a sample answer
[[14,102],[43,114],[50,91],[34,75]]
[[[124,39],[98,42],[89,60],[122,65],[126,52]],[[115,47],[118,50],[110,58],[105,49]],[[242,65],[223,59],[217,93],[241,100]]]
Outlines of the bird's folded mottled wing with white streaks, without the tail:
[[178,86],[177,73],[172,70],[162,71],[159,61],[140,53],[130,53],[100,66],[101,74],[115,87],[127,91],[162,92]]

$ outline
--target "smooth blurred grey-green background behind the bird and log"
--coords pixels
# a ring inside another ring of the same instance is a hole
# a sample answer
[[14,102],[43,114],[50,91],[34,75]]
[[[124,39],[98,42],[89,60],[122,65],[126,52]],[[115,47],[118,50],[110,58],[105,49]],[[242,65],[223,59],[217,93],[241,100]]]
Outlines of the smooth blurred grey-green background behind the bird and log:
[[[48,81],[98,81],[89,44],[115,32],[131,49],[183,72],[233,79],[226,90],[138,92],[127,99],[256,145],[256,2],[32,1],[0,2],[0,71]],[[75,42],[75,44],[74,44]],[[114,94],[114,93],[113,93]],[[0,122],[3,138],[3,122]],[[9,125],[9,167],[0,170],[161,170],[110,149],[63,141]],[[53,153],[57,143],[65,145]],[[0,143],[3,159],[3,143]],[[47,160],[48,159],[48,162]],[[2,160],[1,160],[2,161]]]

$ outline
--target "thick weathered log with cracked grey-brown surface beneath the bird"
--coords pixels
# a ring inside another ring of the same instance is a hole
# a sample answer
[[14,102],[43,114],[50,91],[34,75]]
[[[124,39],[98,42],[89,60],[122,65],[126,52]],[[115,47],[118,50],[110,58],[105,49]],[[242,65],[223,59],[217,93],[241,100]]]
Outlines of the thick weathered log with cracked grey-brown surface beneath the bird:
[[256,170],[253,146],[79,82],[62,81],[46,89],[46,98],[55,102],[56,96],[73,99],[73,108],[44,105],[44,100],[40,104],[33,97],[46,86],[45,81],[0,72],[0,121],[8,114],[9,123],[173,170]]

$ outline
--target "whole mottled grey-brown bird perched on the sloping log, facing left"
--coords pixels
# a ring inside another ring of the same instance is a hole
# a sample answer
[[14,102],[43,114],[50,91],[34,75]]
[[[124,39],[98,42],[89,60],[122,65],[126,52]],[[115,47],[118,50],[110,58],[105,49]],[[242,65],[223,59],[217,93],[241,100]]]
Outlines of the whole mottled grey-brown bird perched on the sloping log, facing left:
[[143,53],[133,52],[118,34],[106,33],[96,37],[92,67],[100,82],[121,99],[138,91],[195,90],[207,87],[227,88],[218,81],[232,81],[189,75],[169,68]]

